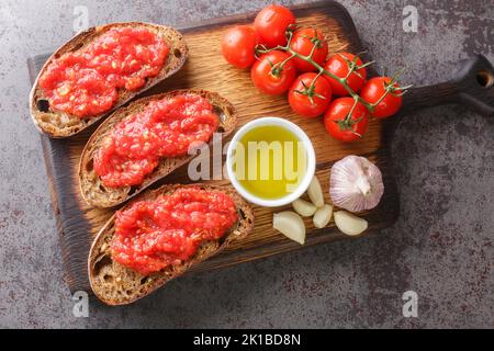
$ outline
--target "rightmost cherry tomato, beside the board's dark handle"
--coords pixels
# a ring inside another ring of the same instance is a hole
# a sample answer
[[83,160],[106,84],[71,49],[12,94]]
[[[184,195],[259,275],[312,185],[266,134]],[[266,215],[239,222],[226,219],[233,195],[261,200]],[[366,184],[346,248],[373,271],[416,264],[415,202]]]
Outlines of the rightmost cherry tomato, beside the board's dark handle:
[[[360,91],[360,97],[368,103],[377,103],[379,99],[385,93],[385,86],[391,82],[390,77],[374,77],[371,78]],[[397,83],[393,84],[393,91],[374,107],[371,115],[375,118],[386,118],[396,112],[402,106],[403,98],[400,95],[402,91]]]

